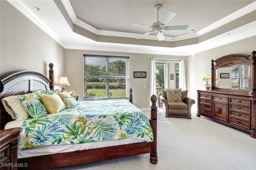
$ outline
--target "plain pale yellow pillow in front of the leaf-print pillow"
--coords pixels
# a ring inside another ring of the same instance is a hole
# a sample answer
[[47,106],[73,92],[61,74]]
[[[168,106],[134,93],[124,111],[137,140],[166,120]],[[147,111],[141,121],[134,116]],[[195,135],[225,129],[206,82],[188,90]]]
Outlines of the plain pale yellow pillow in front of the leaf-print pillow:
[[67,108],[58,94],[39,95],[39,97],[50,114],[58,113],[59,111]]

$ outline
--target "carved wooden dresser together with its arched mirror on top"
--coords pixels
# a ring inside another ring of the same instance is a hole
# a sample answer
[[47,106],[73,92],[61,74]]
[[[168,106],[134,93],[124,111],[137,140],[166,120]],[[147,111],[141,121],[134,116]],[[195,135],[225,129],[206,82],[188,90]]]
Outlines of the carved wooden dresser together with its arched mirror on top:
[[[238,70],[237,68],[240,67],[241,70]],[[250,74],[244,72],[245,68],[249,68]],[[235,69],[238,70],[236,74],[234,74]],[[216,85],[216,76],[223,72],[228,72],[225,74],[234,77],[225,79],[220,77],[223,84]],[[246,73],[249,75],[248,78],[244,76],[245,79],[242,79],[241,75],[247,75]],[[246,78],[249,81],[246,81]],[[197,116],[202,115],[241,129],[256,138],[256,51],[252,52],[252,57],[232,54],[212,60],[211,79],[211,90],[197,90]],[[242,84],[243,81],[247,84]],[[219,85],[225,88],[218,88]],[[234,85],[240,85],[240,88],[232,88]]]

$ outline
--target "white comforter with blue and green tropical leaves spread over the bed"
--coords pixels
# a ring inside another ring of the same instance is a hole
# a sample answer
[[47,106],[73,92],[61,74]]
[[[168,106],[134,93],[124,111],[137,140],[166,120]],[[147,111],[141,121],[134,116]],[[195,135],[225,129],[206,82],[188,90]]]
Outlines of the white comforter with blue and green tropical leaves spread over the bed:
[[128,100],[78,101],[72,109],[22,124],[19,149],[125,138],[153,141],[149,119]]

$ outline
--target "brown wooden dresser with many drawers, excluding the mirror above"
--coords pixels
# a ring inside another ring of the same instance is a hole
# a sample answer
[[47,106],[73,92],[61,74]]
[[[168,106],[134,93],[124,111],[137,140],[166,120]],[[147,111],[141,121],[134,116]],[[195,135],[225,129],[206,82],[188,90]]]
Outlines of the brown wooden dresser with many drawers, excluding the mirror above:
[[[220,123],[251,133],[256,138],[256,97],[238,92],[224,93],[214,90],[197,90],[198,113]],[[252,119],[254,118],[254,120]]]

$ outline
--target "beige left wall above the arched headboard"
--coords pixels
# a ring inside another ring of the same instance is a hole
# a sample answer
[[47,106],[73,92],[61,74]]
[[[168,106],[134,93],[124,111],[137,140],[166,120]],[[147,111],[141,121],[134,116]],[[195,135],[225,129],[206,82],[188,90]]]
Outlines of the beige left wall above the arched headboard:
[[[64,48],[7,1],[0,1],[0,76],[16,70],[35,70],[48,76],[64,72]],[[56,81],[56,80],[55,80]]]

